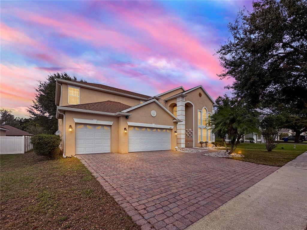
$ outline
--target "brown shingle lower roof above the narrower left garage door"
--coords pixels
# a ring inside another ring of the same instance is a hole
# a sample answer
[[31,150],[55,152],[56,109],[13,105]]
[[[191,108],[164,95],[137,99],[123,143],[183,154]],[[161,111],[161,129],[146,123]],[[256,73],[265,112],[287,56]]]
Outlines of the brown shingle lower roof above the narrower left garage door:
[[67,105],[63,107],[74,108],[74,109],[86,109],[86,110],[107,112],[107,113],[116,113],[128,109],[131,106],[122,104],[120,102],[104,101],[104,102],[93,102],[93,103],[86,103],[80,105]]

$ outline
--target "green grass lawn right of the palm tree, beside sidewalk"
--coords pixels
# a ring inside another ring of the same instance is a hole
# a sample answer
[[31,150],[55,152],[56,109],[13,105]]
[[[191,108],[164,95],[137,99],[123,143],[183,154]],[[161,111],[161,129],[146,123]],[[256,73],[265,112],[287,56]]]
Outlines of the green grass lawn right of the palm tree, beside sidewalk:
[[[228,145],[230,147],[230,145]],[[273,151],[266,151],[265,144],[239,144],[236,153],[241,151],[244,157],[232,157],[231,159],[243,160],[257,164],[283,166],[289,161],[295,159],[298,155],[307,151],[307,145],[295,144],[277,144]]]

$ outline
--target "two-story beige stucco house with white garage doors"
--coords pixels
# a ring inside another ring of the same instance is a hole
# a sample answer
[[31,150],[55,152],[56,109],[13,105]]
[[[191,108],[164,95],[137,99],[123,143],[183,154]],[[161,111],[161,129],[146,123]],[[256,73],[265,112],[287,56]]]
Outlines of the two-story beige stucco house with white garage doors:
[[214,141],[215,102],[202,86],[156,96],[56,79],[58,127],[66,156],[155,151]]

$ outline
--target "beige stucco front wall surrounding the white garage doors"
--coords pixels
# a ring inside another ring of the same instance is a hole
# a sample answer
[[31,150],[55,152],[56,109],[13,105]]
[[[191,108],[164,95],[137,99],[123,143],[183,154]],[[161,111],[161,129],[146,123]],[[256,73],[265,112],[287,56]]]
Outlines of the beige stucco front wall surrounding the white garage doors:
[[[150,112],[155,110],[157,112],[156,117],[152,117]],[[176,135],[174,131],[177,131],[177,123],[173,122],[173,117],[171,117],[165,110],[163,110],[155,102],[144,105],[140,108],[130,111],[132,115],[126,119],[125,116],[113,117],[105,115],[97,115],[90,113],[78,113],[78,112],[65,112],[65,155],[74,156],[75,155],[75,133],[76,125],[73,118],[80,119],[96,119],[99,121],[113,121],[111,126],[111,152],[114,153],[127,153],[128,152],[128,121],[137,123],[147,123],[147,124],[157,124],[157,125],[168,125],[174,126],[171,132],[171,148],[175,150],[177,144]],[[72,132],[68,131],[69,125],[72,125]],[[127,133],[124,133],[124,128],[128,129]],[[64,130],[63,130],[64,131]],[[63,132],[62,132],[63,133]]]

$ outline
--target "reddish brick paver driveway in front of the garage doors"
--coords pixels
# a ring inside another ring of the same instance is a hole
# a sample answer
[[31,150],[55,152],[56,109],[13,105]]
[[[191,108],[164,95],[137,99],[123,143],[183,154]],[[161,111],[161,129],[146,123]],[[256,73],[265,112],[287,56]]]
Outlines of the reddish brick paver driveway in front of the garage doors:
[[77,156],[142,229],[184,229],[278,169],[201,154]]

